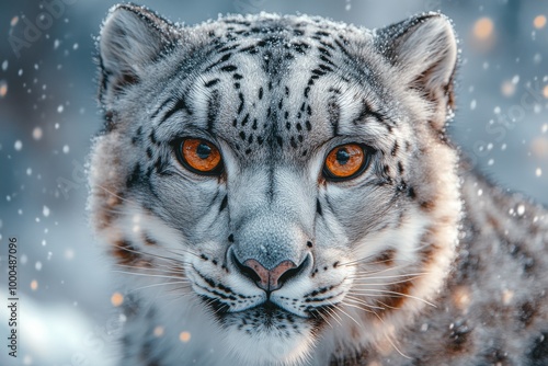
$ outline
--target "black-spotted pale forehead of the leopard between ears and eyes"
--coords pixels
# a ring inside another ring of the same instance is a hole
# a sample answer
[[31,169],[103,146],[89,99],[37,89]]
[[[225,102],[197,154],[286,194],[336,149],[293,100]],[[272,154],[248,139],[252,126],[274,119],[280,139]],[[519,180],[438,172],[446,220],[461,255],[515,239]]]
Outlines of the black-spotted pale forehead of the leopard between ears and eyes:
[[160,122],[178,115],[168,125],[205,130],[243,157],[307,159],[317,146],[358,136],[359,122],[384,115],[375,72],[358,59],[357,48],[373,47],[367,30],[263,14],[194,32],[202,39],[191,53],[193,72],[172,82],[178,96],[155,112]]

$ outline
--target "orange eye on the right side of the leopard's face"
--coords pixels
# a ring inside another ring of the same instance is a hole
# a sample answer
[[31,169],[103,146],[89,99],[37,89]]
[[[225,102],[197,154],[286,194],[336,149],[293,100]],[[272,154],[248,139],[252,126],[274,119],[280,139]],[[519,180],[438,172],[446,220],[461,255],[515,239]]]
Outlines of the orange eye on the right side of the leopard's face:
[[358,144],[335,147],[326,158],[323,175],[331,180],[345,180],[359,174],[367,168],[369,155]]

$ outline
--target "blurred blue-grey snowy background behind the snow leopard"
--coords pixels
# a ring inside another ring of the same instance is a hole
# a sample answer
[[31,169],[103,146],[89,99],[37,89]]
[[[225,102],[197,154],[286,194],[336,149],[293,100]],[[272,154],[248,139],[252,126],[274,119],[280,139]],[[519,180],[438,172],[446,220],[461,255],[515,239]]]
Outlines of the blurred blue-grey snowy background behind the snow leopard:
[[[114,3],[0,2],[1,365],[111,364],[119,297],[88,226],[84,170],[102,123],[94,37]],[[491,180],[548,204],[546,0],[140,3],[187,25],[267,11],[379,27],[439,10],[460,38],[453,139]],[[18,239],[18,358],[7,351],[9,238]]]

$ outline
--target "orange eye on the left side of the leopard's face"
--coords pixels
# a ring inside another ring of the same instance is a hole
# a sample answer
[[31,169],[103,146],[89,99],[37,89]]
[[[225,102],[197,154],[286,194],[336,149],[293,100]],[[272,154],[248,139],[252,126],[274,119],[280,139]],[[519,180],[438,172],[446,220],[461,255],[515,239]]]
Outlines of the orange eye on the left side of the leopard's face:
[[185,168],[198,174],[218,174],[222,168],[219,149],[201,138],[184,139],[179,156]]

